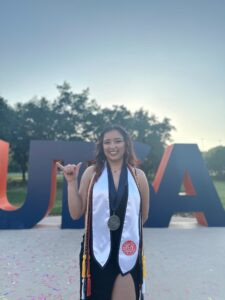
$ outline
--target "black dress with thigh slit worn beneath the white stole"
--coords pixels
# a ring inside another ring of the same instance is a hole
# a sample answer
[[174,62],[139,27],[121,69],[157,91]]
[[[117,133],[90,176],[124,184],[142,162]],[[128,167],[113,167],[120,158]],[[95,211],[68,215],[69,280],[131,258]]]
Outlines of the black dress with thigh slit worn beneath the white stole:
[[[116,207],[116,214],[120,217],[121,225],[118,230],[111,231],[110,258],[107,264],[103,268],[95,260],[93,255],[93,250],[91,247],[90,250],[91,296],[87,298],[90,300],[110,300],[112,296],[114,282],[117,276],[121,274],[119,264],[118,264],[118,251],[120,245],[120,238],[122,234],[122,224],[125,218],[127,199],[128,199],[127,167],[124,166],[121,171],[118,191],[115,190],[111,170],[109,167],[108,167],[108,180],[109,180],[110,212],[112,214],[112,212],[115,211],[114,209]],[[114,209],[113,209],[113,205],[111,205],[112,201],[114,202]],[[90,235],[90,239],[91,239],[90,244],[92,245],[92,232]],[[81,268],[82,254],[83,254],[83,242],[81,243],[80,268]],[[135,292],[136,292],[136,299],[138,300],[140,297],[140,288],[142,282],[141,251],[139,251],[138,259],[134,268],[129,273],[133,278]]]

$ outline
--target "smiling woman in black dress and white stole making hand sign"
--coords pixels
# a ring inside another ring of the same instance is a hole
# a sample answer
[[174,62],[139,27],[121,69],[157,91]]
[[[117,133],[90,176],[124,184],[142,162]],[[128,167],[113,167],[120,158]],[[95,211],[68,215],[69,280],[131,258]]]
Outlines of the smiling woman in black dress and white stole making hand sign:
[[143,299],[142,225],[148,218],[149,186],[136,162],[128,133],[111,126],[100,135],[96,162],[85,170],[79,189],[81,163],[61,166],[72,218],[86,215],[81,299]]

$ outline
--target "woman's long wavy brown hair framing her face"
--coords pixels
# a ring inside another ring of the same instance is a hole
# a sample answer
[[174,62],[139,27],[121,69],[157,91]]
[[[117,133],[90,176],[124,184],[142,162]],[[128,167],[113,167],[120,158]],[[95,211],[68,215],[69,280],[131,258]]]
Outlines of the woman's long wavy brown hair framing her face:
[[118,131],[123,136],[125,142],[124,162],[131,166],[136,166],[138,164],[138,160],[134,152],[133,143],[131,141],[129,133],[120,125],[111,125],[109,127],[106,127],[102,131],[96,143],[95,171],[98,175],[101,173],[104,163],[106,161],[106,157],[103,150],[104,135],[107,132],[113,130]]

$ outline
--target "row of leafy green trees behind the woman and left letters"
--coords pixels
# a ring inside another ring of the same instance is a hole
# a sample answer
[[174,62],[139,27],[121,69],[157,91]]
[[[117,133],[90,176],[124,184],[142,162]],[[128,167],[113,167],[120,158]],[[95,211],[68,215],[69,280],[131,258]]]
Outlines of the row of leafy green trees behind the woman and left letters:
[[[0,112],[4,115],[1,138],[5,136],[11,142],[12,165],[20,166],[24,181],[30,140],[96,141],[102,129],[110,124],[124,126],[133,140],[150,146],[143,168],[149,178],[153,177],[174,130],[168,118],[160,122],[142,108],[131,112],[124,105],[101,108],[89,98],[88,89],[74,93],[67,82],[58,85],[57,90],[59,95],[52,102],[35,98],[17,103],[14,108],[0,98]],[[10,130],[7,128],[9,114]]]

